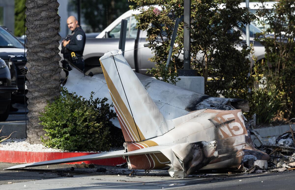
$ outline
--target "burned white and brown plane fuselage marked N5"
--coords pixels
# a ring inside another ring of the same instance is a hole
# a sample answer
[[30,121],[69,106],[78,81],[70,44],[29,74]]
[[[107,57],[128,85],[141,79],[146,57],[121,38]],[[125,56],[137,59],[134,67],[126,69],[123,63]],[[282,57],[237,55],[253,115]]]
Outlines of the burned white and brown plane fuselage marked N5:
[[[162,144],[194,143],[198,141],[216,141],[215,154],[200,151],[203,147],[195,147],[198,153],[191,148],[181,150],[183,169],[188,169],[186,175],[199,169],[235,168],[241,165],[245,137],[248,136],[245,128],[244,116],[241,110],[210,110],[191,112],[185,122],[172,130],[143,142],[128,142],[127,151],[157,146]],[[193,156],[196,155],[196,156]],[[177,155],[179,156],[179,155]],[[127,158],[129,169],[163,169],[167,168],[169,159],[160,154],[143,154]],[[177,161],[177,160],[175,160]],[[193,164],[194,163],[194,164]]]

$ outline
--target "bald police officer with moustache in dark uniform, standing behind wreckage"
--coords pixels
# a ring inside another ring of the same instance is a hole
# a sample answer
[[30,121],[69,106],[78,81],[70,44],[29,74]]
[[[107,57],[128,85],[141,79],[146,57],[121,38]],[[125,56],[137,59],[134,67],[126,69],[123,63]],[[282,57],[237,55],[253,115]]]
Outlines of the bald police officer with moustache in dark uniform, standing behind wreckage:
[[67,19],[68,28],[72,31],[62,43],[61,53],[63,58],[68,59],[78,69],[84,71],[83,51],[86,42],[86,35],[75,16]]

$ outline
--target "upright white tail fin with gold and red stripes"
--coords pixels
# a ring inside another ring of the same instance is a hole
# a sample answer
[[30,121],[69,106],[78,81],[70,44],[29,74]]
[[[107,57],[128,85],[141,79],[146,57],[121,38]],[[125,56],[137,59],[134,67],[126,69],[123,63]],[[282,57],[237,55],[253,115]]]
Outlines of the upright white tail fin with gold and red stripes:
[[117,50],[100,59],[104,77],[126,142],[140,142],[163,135],[172,128]]

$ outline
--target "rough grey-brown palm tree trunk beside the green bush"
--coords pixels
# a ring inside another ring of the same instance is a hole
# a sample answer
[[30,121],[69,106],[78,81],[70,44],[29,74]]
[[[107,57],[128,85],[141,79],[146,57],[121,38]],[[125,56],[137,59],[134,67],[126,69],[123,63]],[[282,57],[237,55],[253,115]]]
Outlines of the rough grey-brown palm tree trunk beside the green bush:
[[44,135],[40,112],[47,101],[60,95],[59,40],[60,16],[57,0],[27,0],[27,82],[28,118],[27,141],[40,143]]

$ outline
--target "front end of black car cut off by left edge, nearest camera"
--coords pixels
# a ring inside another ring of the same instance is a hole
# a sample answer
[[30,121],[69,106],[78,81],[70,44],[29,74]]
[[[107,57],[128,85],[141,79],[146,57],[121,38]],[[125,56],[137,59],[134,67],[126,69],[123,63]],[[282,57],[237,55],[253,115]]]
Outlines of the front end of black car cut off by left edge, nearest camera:
[[11,85],[9,67],[0,58],[0,121],[5,121],[8,118],[11,95],[17,90],[17,86]]

